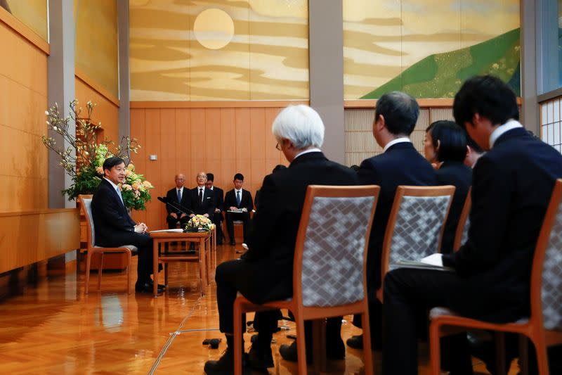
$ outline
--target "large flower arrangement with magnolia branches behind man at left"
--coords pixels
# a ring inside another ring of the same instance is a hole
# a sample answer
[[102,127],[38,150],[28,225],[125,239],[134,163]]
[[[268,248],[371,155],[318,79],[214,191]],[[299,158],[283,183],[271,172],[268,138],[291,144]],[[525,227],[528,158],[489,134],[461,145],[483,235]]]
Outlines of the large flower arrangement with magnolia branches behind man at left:
[[[123,158],[127,164],[126,181],[122,186],[123,201],[127,208],[133,210],[145,210],[145,203],[150,201],[150,189],[154,186],[145,180],[142,174],[136,174],[135,167],[131,162],[130,153],[138,153],[141,146],[136,139],[128,136],[123,137],[117,147],[112,147],[112,141],[98,141],[98,129],[101,123],[93,124],[91,115],[96,105],[91,101],[86,103],[86,114],[82,116],[82,108],[78,107],[78,101],[70,102],[70,115],[62,117],[58,104],[48,108],[45,114],[48,116],[48,129],[60,134],[63,141],[68,144],[67,148],[56,145],[51,136],[42,136],[43,144],[49,150],[54,151],[60,158],[60,165],[72,178],[72,185],[63,190],[69,201],[76,199],[79,194],[93,193],[103,178],[103,162],[111,156]],[[75,132],[74,132],[75,129]],[[110,151],[110,147],[114,151]]]

